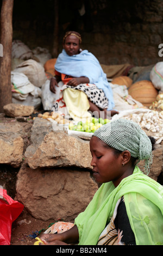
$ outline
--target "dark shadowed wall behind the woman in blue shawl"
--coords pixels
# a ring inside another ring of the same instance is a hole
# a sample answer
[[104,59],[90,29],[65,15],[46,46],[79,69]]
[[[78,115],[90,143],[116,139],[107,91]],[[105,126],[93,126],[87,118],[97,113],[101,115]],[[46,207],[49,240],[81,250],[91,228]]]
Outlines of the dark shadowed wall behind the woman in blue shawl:
[[65,31],[74,30],[102,64],[151,65],[161,60],[162,12],[161,0],[15,0],[13,39],[51,53],[57,47],[57,57]]

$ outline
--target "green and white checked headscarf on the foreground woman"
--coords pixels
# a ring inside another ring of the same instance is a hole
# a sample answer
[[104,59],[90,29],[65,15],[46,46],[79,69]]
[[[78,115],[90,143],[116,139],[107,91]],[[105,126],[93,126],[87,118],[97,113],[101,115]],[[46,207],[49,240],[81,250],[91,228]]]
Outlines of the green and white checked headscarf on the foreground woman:
[[152,164],[152,143],[140,125],[127,119],[118,119],[101,126],[93,133],[110,147],[120,151],[128,150],[131,156],[138,159],[137,162],[145,160],[146,175],[149,174]]

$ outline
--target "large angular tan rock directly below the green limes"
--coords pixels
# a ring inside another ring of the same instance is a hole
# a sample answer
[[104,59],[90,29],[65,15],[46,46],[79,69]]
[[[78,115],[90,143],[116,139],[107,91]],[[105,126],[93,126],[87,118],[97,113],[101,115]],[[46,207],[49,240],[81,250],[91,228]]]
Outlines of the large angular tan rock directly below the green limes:
[[53,131],[52,123],[36,118],[32,127],[32,144],[24,156],[30,168],[77,166],[92,169],[89,141]]

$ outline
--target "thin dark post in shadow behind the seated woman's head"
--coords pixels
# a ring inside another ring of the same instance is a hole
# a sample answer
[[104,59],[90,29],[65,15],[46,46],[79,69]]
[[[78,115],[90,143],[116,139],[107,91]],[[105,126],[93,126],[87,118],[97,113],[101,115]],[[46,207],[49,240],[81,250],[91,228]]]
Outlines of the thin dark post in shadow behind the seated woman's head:
[[59,45],[59,1],[54,0],[54,32],[53,32],[53,58],[58,57],[58,45]]

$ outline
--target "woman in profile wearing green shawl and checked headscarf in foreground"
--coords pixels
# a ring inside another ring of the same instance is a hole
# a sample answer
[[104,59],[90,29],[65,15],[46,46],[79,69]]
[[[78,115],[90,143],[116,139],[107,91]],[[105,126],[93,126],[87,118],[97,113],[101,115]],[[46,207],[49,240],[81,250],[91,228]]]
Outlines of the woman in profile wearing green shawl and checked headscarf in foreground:
[[[147,176],[153,144],[154,138],[126,119],[95,131],[91,166],[102,185],[73,228],[41,239],[53,245],[163,245],[163,189]],[[143,172],[136,165],[141,160]]]

